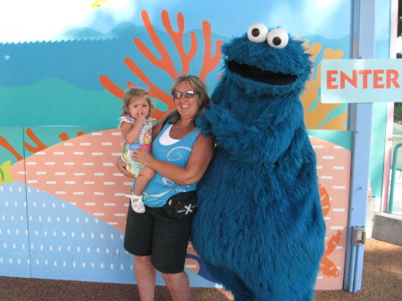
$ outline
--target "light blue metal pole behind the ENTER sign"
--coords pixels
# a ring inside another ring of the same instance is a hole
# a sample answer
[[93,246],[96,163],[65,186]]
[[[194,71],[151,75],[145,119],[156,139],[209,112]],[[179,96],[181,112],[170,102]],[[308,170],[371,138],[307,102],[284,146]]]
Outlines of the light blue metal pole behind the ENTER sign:
[[[375,0],[352,1],[351,58],[374,57]],[[348,106],[348,130],[353,133],[352,172],[348,212],[348,245],[345,263],[344,289],[361,289],[365,216],[368,199],[370,145],[373,104]]]

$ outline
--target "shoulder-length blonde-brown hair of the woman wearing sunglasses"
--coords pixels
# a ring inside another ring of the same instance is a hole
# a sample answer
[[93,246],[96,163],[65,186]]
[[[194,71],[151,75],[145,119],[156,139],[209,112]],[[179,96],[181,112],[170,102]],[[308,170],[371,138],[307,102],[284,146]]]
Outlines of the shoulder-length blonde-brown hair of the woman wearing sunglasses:
[[[172,85],[172,95],[176,92],[177,86],[182,81],[187,81],[188,85],[198,93],[199,96],[199,108],[197,112],[197,116],[201,116],[205,109],[208,109],[211,104],[211,98],[208,95],[208,90],[205,86],[204,81],[198,78],[196,75],[181,75],[176,80],[174,80]],[[196,117],[197,117],[196,116]],[[172,111],[169,117],[169,123],[177,123],[180,121],[180,113],[177,110]]]

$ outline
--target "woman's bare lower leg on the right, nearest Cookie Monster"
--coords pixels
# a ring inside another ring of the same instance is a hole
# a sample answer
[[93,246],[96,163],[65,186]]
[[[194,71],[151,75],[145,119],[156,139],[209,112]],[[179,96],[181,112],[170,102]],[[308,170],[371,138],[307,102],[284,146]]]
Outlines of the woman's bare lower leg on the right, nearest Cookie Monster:
[[189,301],[190,286],[186,272],[175,274],[162,273],[164,283],[171,292],[173,301]]

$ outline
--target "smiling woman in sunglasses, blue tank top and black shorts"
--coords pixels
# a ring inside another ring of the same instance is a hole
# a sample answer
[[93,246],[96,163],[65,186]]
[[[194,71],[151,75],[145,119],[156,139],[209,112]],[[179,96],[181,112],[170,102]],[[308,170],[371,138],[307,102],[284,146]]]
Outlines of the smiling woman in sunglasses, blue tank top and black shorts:
[[[154,300],[156,270],[162,272],[174,301],[190,300],[184,262],[192,217],[170,218],[162,206],[170,196],[196,189],[214,153],[213,138],[204,136],[195,123],[210,104],[205,84],[196,76],[180,76],[172,85],[172,96],[176,110],[155,125],[152,155],[142,149],[134,153],[136,161],[156,171],[144,189],[146,213],[129,208],[124,239],[125,249],[135,255],[141,301]],[[120,160],[117,166],[132,176]]]

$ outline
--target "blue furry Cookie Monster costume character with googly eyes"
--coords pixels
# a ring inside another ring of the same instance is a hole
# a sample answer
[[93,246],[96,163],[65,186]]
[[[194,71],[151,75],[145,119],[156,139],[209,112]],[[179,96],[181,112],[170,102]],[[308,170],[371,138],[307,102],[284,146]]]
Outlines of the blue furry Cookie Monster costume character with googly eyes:
[[236,301],[308,301],[324,251],[316,159],[299,96],[302,42],[257,23],[222,46],[222,80],[197,121],[216,139],[192,242]]

